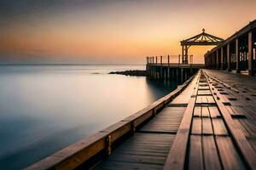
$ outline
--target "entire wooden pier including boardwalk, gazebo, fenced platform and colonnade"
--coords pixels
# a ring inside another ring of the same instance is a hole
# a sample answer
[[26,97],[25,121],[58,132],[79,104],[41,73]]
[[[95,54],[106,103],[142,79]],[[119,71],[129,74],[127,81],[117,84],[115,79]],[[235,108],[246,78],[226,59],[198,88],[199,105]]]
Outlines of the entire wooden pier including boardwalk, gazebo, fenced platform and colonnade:
[[[181,41],[182,63],[147,57],[149,79],[181,85],[26,169],[255,169],[256,77],[229,72],[253,75],[255,36],[256,20],[227,40],[203,29]],[[191,45],[212,44],[206,65],[189,61]]]

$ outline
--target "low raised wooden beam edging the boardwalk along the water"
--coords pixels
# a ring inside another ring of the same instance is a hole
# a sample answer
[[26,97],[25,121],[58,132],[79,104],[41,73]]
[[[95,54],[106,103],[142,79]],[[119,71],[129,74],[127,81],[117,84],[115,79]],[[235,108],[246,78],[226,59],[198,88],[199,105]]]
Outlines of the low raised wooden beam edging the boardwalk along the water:
[[120,143],[135,133],[145,122],[148,122],[150,118],[154,117],[166,104],[180,94],[193,78],[194,76],[190,77],[172,93],[158,99],[143,110],[137,111],[124,120],[68,146],[30,167],[26,167],[26,170],[93,167],[98,161],[109,156]]

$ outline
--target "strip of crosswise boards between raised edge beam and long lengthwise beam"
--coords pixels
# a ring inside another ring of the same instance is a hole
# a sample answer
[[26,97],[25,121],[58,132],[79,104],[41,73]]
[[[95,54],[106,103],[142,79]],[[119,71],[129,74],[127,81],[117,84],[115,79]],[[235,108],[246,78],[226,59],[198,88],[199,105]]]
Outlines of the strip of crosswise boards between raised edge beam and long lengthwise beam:
[[[186,88],[181,95],[177,96],[177,98],[189,97],[190,99],[192,93],[187,89],[194,89],[196,84],[195,80],[193,80],[189,84],[189,87]],[[167,105],[165,109],[160,111],[154,119],[139,129],[138,133],[135,133],[135,136],[132,137],[132,139],[128,139],[124,144],[121,144],[120,147],[113,152],[113,155],[109,156],[105,161],[102,161],[96,169],[162,169],[177,130],[180,128],[180,124],[185,124],[185,122],[181,121],[183,120],[183,115],[186,114],[187,103],[186,100],[183,101],[177,98],[172,100],[171,104]],[[137,134],[140,136],[137,136]],[[172,136],[172,139],[165,139],[170,135]],[[144,136],[148,136],[148,138],[144,138]],[[168,148],[163,148],[165,144],[159,144],[154,148],[153,146],[158,144],[154,142],[154,139],[158,141],[166,141],[166,143],[169,144]],[[141,140],[143,143],[140,143]],[[131,144],[134,144],[132,149],[136,148],[136,150],[131,150],[129,147]],[[150,147],[145,148],[144,145],[149,145]],[[143,155],[137,150],[143,152]],[[158,152],[163,151],[165,154],[157,154]],[[126,156],[127,152],[132,152],[131,160]],[[137,159],[133,159],[132,157],[136,157]]]

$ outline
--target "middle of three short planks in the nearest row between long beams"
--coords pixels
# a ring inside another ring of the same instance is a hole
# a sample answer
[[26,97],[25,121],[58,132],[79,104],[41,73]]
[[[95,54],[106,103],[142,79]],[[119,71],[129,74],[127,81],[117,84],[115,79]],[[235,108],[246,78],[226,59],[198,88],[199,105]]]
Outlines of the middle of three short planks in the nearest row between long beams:
[[218,159],[218,150],[213,136],[202,136],[203,157],[206,169],[221,169]]

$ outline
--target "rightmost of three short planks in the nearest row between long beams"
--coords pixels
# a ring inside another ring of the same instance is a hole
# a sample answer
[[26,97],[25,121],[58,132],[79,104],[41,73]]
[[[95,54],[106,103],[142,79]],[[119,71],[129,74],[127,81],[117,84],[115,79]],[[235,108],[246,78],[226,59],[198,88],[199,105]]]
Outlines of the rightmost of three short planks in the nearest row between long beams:
[[217,136],[216,142],[224,169],[246,169],[230,137]]

